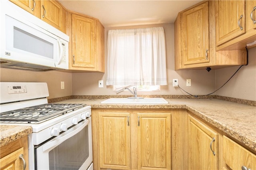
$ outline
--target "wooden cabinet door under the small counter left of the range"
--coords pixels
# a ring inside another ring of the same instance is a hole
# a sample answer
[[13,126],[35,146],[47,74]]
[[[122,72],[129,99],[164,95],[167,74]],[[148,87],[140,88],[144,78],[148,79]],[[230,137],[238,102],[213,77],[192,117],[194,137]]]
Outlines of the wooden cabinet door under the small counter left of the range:
[[19,158],[20,154],[24,154],[24,149],[20,148],[0,159],[1,170],[22,170],[23,162]]

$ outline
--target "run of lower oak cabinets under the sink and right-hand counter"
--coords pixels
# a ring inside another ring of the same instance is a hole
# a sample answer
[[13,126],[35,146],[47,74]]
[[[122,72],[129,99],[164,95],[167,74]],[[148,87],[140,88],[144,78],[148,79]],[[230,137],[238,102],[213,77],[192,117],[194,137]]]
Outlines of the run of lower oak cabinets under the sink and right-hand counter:
[[256,170],[254,150],[186,109],[93,108],[92,125],[94,170]]

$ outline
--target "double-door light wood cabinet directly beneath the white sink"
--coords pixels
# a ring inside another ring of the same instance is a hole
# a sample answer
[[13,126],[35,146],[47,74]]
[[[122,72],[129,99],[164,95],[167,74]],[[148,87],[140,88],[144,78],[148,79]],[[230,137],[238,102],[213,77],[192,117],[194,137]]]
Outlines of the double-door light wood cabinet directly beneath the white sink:
[[92,109],[92,123],[94,169],[171,169],[170,110]]

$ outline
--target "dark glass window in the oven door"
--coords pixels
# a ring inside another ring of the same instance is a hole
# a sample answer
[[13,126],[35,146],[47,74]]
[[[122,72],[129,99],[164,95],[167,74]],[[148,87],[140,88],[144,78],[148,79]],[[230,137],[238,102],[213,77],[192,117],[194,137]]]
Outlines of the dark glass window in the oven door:
[[89,157],[88,126],[49,152],[50,170],[78,170]]

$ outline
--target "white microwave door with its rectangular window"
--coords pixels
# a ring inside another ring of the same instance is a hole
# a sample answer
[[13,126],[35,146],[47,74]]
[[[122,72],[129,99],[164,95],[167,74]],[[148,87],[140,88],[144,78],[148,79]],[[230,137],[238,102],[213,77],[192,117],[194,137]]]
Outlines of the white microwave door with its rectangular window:
[[[55,67],[57,37],[28,21],[6,15],[6,59]],[[38,28],[38,29],[37,29]]]

